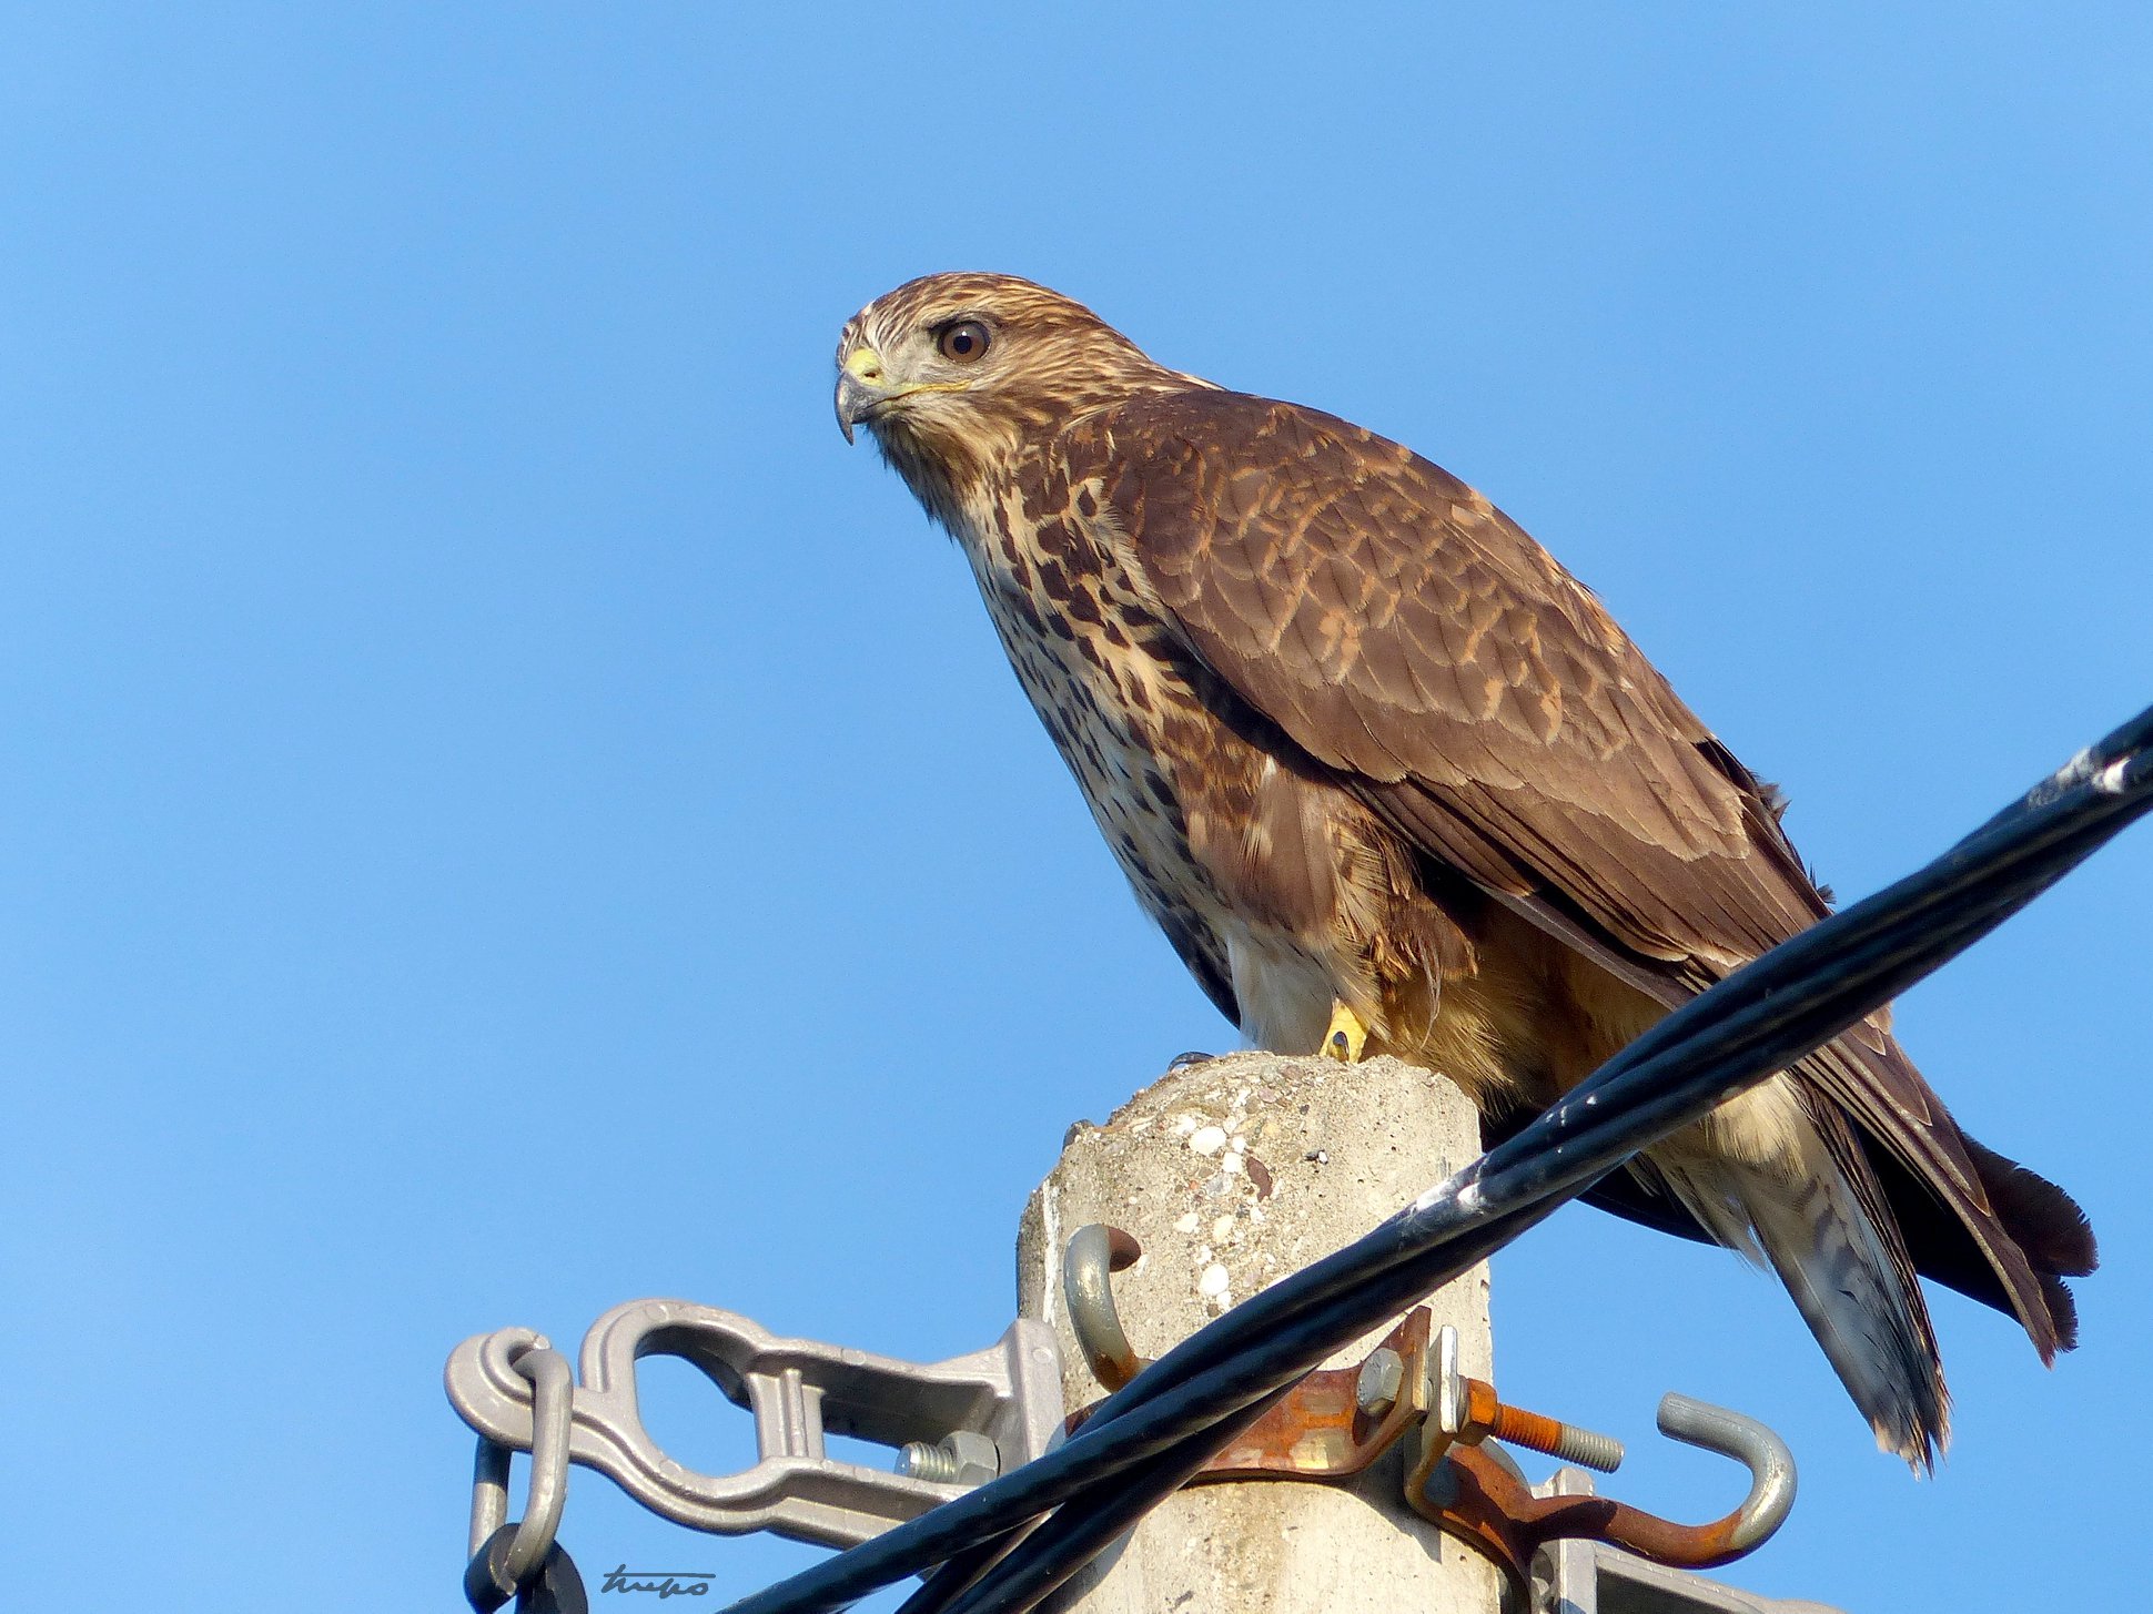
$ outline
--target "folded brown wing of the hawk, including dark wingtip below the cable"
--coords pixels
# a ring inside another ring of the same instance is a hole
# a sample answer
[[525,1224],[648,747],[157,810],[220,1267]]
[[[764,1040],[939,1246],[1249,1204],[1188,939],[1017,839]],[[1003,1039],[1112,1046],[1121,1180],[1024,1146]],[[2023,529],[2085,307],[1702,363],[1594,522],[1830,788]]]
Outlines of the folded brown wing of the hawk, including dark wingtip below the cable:
[[[1679,1003],[1826,912],[1763,788],[1587,590],[1434,465],[1229,392],[1139,398],[1066,441],[1234,693],[1619,977]],[[1852,1119],[1854,1179],[1888,1197],[1914,1261],[2015,1313],[2043,1358],[2069,1347],[2060,1278],[2093,1268],[2069,1197],[1964,1138],[1882,1024],[1802,1076]]]

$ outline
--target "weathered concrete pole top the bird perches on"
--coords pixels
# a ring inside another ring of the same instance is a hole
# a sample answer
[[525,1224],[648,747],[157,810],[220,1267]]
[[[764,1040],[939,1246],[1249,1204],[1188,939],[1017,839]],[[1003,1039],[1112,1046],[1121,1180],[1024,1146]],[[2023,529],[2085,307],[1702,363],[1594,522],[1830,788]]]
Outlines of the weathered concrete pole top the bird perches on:
[[[1361,1237],[1479,1153],[1479,1117],[1447,1080],[1376,1059],[1227,1054],[1173,1072],[1104,1125],[1079,1123],[1025,1209],[1018,1311],[1061,1339],[1070,1410],[1104,1390],[1061,1296],[1070,1233],[1107,1222],[1143,1259],[1115,1278],[1135,1349],[1163,1356],[1234,1302]],[[1466,1373],[1490,1377],[1488,1268],[1434,1298]],[[1359,1364],[1374,1330],[1326,1367]],[[1496,1569],[1402,1498],[1399,1442],[1350,1485],[1236,1481],[1171,1496],[1072,1580],[1083,1614],[1494,1614]]]

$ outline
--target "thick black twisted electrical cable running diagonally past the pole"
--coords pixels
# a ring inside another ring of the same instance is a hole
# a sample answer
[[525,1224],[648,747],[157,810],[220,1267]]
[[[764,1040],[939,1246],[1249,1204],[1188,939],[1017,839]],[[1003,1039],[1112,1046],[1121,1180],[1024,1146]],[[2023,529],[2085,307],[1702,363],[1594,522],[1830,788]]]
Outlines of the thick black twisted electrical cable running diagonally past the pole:
[[[2088,747],[1929,867],[1666,1016],[1451,1184],[1169,1351],[1059,1450],[747,1597],[728,1614],[818,1614],[958,1554],[967,1554],[971,1573],[954,1575],[937,1605],[980,1614],[1029,1608],[1111,1541],[1113,1532],[1100,1534],[1111,1519],[1124,1528],[1150,1504],[1143,1498],[1165,1493],[1154,1489],[1176,1468],[1193,1472],[1223,1444],[1214,1427],[1221,1418],[1290,1386],[1365,1326],[1518,1237],[1638,1147],[1830,1042],[2063,878],[2153,807],[2149,742],[2153,710]],[[1111,1500],[1102,1500],[1109,1485]],[[1061,1515],[988,1562],[999,1537],[1057,1506]]]

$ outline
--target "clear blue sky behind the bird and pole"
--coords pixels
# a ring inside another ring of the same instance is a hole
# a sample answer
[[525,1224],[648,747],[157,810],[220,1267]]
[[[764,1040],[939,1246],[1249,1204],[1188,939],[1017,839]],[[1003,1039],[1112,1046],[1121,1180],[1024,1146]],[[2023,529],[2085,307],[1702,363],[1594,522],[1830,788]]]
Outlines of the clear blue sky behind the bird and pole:
[[[1860,895],[2153,697],[2149,105],[2142,6],[9,6],[0,1601],[459,1608],[459,1339],[975,1349],[1064,1128],[1232,1044],[838,437],[863,301],[1025,273],[1421,448]],[[1658,1392],[1776,1425],[1759,1590],[2134,1595],[2149,908],[2140,829],[1901,1005],[2108,1257],[2054,1375],[1938,1298],[1933,1483],[1776,1285],[1585,1209],[1503,1388],[1692,1517]],[[564,1539],[814,1556],[594,1474]]]

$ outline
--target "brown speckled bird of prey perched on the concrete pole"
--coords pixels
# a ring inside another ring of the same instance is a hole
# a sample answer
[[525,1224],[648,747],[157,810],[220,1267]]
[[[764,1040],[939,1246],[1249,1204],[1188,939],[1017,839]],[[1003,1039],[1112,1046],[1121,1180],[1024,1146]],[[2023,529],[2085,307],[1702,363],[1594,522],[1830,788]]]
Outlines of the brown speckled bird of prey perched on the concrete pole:
[[[1477,491],[1154,364],[1010,275],[846,323],[838,424],[971,562],[1139,902],[1257,1046],[1391,1052],[1492,1128],[1828,912],[1778,796]],[[1778,1272],[1877,1444],[1948,1399],[1916,1272],[2075,1343],[2084,1214],[1871,1016],[1602,1184]]]

